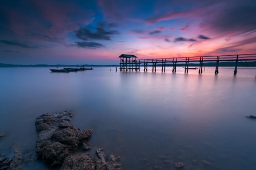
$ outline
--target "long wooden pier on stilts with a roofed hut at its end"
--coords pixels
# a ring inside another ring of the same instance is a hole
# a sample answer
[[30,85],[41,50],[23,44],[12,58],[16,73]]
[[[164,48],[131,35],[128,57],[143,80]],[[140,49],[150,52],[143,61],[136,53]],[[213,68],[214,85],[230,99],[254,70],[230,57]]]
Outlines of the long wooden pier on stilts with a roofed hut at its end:
[[223,55],[223,56],[195,56],[195,57],[172,57],[166,59],[142,59],[137,60],[137,56],[122,54],[120,58],[120,71],[140,71],[141,65],[144,72],[147,72],[148,64],[152,65],[152,72],[156,72],[156,64],[162,64],[162,72],[166,72],[166,63],[172,64],[172,72],[176,72],[177,63],[185,63],[185,73],[188,73],[189,63],[199,63],[199,73],[203,72],[203,63],[216,62],[215,74],[218,74],[220,62],[232,61],[236,63],[234,74],[237,74],[238,61],[256,61],[256,54]]

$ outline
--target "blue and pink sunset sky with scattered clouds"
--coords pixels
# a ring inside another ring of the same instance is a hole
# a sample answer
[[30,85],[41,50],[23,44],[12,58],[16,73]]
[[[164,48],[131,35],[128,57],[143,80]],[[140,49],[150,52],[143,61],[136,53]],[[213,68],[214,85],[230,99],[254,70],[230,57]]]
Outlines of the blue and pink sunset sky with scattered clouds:
[[0,63],[256,53],[253,0],[1,0]]

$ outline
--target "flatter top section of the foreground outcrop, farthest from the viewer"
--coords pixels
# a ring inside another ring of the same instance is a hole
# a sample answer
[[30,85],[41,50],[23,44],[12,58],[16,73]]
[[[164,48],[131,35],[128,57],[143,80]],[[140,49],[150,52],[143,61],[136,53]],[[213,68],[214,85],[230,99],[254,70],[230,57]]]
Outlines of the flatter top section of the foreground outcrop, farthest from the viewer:
[[72,117],[73,113],[71,111],[61,111],[55,114],[42,114],[40,117],[36,118],[36,131],[51,130],[62,120],[69,121]]

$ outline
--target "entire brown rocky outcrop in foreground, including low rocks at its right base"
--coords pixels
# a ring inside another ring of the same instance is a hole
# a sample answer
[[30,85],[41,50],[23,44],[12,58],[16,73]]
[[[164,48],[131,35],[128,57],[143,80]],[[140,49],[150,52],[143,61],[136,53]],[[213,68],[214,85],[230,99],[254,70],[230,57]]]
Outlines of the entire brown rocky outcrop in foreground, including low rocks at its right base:
[[43,114],[36,118],[36,131],[39,132],[36,141],[36,154],[51,167],[62,165],[61,170],[96,169],[121,170],[114,155],[106,161],[102,148],[96,151],[96,159],[92,160],[87,154],[76,154],[79,146],[84,150],[91,148],[86,142],[92,136],[93,130],[80,130],[73,127],[69,121],[72,112],[61,111],[56,114]]

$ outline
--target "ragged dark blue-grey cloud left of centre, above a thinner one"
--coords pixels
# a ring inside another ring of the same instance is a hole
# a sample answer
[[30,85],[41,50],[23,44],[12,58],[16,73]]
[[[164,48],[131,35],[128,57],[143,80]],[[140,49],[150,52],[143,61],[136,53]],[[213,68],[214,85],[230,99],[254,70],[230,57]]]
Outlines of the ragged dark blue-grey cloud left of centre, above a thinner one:
[[75,31],[76,37],[82,40],[97,39],[97,40],[111,40],[112,35],[119,34],[117,30],[105,30],[104,24],[101,27],[95,28],[95,32],[90,31],[88,28],[80,28]]

